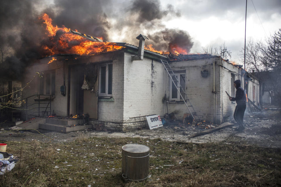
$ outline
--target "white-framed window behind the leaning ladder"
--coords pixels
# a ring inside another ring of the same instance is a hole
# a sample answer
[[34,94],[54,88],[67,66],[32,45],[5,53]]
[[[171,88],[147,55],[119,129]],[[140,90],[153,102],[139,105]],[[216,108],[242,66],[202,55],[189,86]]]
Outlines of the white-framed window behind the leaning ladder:
[[[170,101],[182,99],[179,95],[179,92],[177,91],[177,88],[180,89],[182,97],[185,98],[185,74],[175,74],[175,76],[172,76],[172,79],[174,80],[175,84],[177,84],[177,87],[170,79]],[[178,80],[179,82],[177,82],[176,80]],[[181,86],[182,89],[179,86]]]

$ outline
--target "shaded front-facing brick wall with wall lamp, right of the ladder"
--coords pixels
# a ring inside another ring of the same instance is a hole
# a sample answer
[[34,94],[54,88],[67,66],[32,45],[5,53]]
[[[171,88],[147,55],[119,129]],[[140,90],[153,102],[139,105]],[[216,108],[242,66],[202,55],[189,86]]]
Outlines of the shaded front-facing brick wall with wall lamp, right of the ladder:
[[[189,99],[201,120],[213,121],[213,66],[215,58],[188,60],[171,63],[173,70],[186,70],[186,99]],[[208,70],[208,76],[202,77],[201,71]],[[218,75],[218,70],[216,70]],[[217,79],[217,77],[216,77]],[[167,82],[169,85],[169,82]],[[219,83],[216,82],[215,89]],[[170,85],[169,85],[170,86]],[[168,110],[182,120],[184,113],[189,113],[185,104],[169,103]]]

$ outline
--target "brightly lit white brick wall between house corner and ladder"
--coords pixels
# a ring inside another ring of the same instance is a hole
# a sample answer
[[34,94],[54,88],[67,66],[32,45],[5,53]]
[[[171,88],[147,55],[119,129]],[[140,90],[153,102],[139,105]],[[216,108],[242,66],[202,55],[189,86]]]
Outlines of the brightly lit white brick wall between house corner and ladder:
[[124,128],[136,124],[134,117],[162,115],[166,79],[161,62],[148,58],[131,61],[131,54],[125,53]]

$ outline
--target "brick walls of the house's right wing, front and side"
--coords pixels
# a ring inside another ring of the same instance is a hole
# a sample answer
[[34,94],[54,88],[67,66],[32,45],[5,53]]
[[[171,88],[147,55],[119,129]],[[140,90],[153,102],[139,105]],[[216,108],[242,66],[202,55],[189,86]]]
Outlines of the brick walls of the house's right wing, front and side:
[[[244,88],[244,76],[240,68],[231,63],[225,62],[221,58],[210,58],[203,60],[189,60],[171,63],[173,70],[186,70],[186,98],[190,99],[194,109],[201,120],[215,122],[214,118],[214,93],[213,91],[213,62],[215,61],[215,92],[216,92],[216,122],[220,124],[233,119],[233,111],[236,103],[228,99],[227,91],[231,94],[231,75],[235,75],[235,80],[240,79]],[[201,71],[208,70],[208,77],[201,77]],[[166,82],[169,85],[169,82]],[[255,101],[258,102],[258,80],[249,81],[251,85],[248,94],[252,96],[255,85]],[[169,90],[167,88],[167,90]],[[169,103],[168,110],[174,112],[178,119],[182,119],[184,113],[189,113],[185,104]]]

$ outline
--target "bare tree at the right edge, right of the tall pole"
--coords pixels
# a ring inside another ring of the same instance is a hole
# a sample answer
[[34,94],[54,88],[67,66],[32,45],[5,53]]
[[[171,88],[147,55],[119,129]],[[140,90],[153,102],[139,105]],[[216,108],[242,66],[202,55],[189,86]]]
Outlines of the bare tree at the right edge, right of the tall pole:
[[[239,55],[241,61],[244,61],[243,48]],[[256,76],[268,91],[273,91],[273,95],[270,95],[271,98],[281,106],[281,29],[265,42],[248,41],[245,63],[248,71],[260,72]]]

